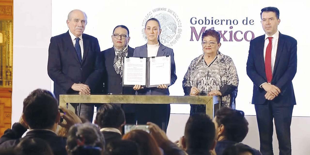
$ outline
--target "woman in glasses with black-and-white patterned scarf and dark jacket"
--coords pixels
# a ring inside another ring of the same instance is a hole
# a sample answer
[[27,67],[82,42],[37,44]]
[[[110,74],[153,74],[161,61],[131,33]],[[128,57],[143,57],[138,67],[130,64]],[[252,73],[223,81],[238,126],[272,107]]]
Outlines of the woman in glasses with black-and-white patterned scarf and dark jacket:
[[[118,25],[111,36],[113,47],[101,52],[104,61],[103,94],[135,95],[132,87],[122,86],[123,60],[125,56],[133,56],[134,48],[129,47],[129,29]],[[126,117],[126,123],[135,124],[135,105],[121,105]]]

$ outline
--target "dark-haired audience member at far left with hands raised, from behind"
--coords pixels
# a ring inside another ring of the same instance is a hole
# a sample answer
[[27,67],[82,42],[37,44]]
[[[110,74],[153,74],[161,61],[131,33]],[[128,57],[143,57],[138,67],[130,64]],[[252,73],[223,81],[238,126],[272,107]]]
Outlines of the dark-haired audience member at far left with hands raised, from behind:
[[[66,138],[56,135],[57,125],[70,128],[81,119],[66,108],[61,107],[64,113],[59,112],[58,101],[47,90],[32,91],[24,100],[23,113],[19,122],[7,129],[0,138],[0,149],[14,148],[23,139],[41,138],[51,146],[54,155],[67,155]],[[60,118],[67,123],[60,123]],[[29,132],[21,136],[30,129]]]

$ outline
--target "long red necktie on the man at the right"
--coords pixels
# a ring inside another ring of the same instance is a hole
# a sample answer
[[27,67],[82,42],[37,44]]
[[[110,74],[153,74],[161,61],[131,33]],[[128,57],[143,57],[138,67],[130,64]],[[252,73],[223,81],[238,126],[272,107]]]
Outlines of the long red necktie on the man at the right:
[[271,39],[273,37],[268,37],[269,43],[266,48],[266,55],[265,55],[265,71],[267,82],[270,83],[272,80],[272,72],[271,72],[271,49],[272,49],[272,42]]

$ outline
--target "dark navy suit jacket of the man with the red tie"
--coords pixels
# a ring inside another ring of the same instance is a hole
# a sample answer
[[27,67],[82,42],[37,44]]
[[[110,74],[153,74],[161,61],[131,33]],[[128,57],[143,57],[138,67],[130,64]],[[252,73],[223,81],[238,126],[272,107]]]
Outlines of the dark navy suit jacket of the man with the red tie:
[[[263,50],[265,35],[250,41],[246,72],[254,83],[252,104],[264,104],[266,91],[259,86],[267,82]],[[277,55],[274,64],[271,84],[277,86],[281,93],[269,101],[277,106],[296,104],[292,80],[297,70],[297,41],[279,33]]]

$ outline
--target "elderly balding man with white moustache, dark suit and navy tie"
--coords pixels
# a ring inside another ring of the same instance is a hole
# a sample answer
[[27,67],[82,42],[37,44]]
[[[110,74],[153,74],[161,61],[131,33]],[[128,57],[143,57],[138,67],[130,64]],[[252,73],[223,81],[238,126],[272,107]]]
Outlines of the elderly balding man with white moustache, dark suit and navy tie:
[[[97,93],[103,64],[97,38],[83,34],[86,24],[86,14],[73,10],[67,20],[69,31],[51,38],[47,72],[58,100],[60,94]],[[94,105],[82,104],[80,109],[80,115],[91,121]]]

